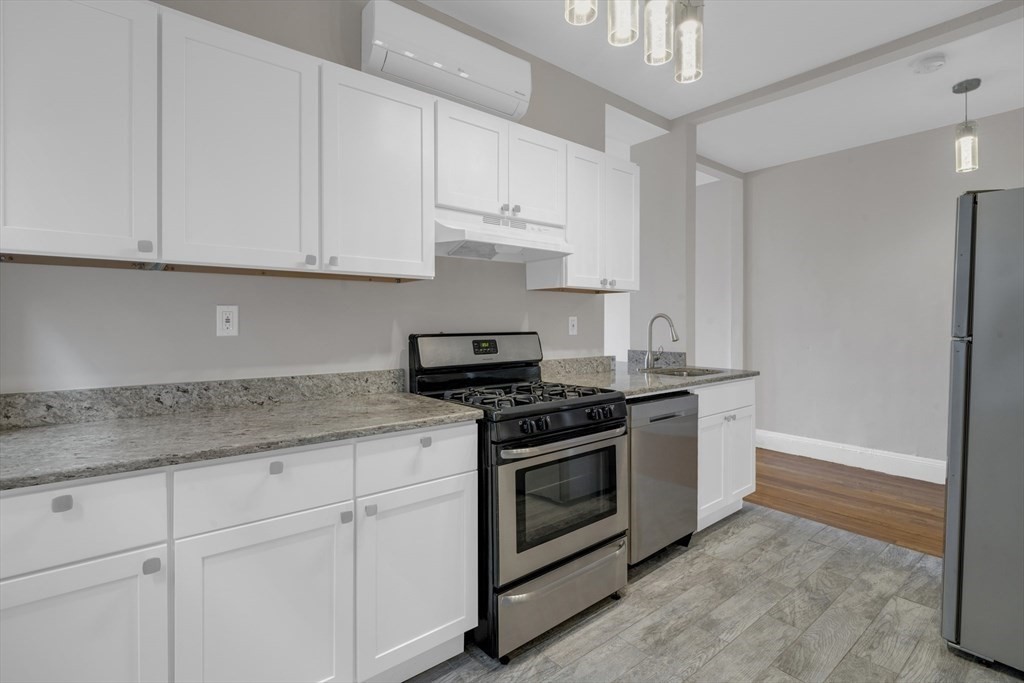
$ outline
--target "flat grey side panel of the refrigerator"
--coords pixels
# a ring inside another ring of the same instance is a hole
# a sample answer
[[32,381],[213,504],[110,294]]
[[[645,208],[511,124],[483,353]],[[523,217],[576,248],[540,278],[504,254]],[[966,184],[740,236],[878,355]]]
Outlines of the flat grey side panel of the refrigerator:
[[959,644],[1024,669],[1024,188],[979,195]]

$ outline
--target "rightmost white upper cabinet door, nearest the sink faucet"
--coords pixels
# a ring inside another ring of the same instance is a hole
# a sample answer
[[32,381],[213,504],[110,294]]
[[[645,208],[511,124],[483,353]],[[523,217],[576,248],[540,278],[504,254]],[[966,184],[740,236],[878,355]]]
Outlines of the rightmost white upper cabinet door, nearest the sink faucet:
[[608,288],[640,289],[640,168],[608,159],[604,201],[604,272]]

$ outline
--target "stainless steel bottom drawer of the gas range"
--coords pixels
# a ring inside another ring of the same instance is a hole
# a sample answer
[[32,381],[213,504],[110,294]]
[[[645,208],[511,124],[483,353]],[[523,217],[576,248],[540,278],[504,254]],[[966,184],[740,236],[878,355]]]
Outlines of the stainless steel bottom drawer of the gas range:
[[626,539],[498,596],[498,656],[626,586]]

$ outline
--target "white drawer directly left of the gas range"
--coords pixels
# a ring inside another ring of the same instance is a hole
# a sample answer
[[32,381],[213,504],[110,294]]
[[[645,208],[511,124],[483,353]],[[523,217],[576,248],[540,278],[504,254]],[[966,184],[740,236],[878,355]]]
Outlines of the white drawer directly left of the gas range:
[[476,425],[409,432],[355,446],[355,495],[476,470]]

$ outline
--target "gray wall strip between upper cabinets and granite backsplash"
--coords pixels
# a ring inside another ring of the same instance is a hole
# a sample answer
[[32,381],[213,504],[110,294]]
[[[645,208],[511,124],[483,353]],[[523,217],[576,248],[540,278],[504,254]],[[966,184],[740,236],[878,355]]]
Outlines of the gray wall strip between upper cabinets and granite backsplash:
[[[599,296],[524,283],[452,258],[402,284],[4,263],[0,392],[407,368],[421,332],[537,330],[548,357],[601,355]],[[217,304],[239,305],[238,337],[214,336]]]

